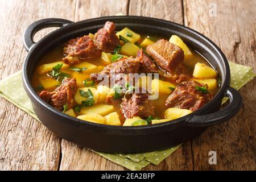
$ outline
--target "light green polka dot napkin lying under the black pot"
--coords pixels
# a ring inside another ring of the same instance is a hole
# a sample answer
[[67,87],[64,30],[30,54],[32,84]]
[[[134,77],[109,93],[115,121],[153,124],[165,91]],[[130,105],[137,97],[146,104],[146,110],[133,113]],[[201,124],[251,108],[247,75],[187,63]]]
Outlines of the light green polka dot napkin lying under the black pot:
[[[252,68],[250,67],[231,62],[229,62],[229,66],[231,73],[231,86],[235,89],[240,89],[255,76]],[[39,121],[32,109],[30,100],[23,89],[21,71],[0,81],[0,96],[6,98],[6,100],[26,111],[26,113]],[[223,103],[225,101],[226,98],[224,98]],[[167,158],[167,156],[171,155],[179,146],[180,145],[171,147],[167,150],[146,152],[142,154],[107,154],[104,152],[94,152],[130,170],[141,170],[150,163],[158,165]]]

